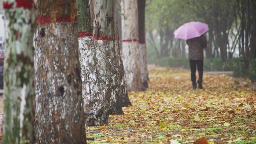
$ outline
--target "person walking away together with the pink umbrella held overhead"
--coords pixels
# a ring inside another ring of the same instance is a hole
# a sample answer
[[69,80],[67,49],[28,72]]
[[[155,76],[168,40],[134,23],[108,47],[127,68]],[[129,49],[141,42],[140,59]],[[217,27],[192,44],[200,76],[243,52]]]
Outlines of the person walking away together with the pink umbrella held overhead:
[[[206,37],[203,35],[209,30],[207,24],[200,21],[185,23],[174,31],[174,37],[186,40],[189,46],[189,62],[191,70],[192,88],[202,89],[203,77],[203,48],[207,47]],[[199,79],[196,83],[196,66]]]

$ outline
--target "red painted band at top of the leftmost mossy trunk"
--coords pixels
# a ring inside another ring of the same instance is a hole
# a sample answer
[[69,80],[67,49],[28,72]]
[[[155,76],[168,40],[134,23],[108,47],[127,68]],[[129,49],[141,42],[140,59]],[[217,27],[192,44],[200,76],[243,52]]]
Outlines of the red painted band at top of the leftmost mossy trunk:
[[[16,1],[16,8],[24,8],[24,9],[31,9],[32,6],[34,5],[33,0],[15,0]],[[8,3],[8,2],[3,2],[3,8],[4,9],[12,9],[14,3]]]

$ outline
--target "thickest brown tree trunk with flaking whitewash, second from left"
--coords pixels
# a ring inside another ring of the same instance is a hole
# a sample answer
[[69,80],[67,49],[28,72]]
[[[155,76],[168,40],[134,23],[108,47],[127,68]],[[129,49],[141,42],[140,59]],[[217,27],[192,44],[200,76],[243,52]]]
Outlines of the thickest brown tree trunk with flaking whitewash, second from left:
[[85,142],[75,0],[38,0],[35,134],[40,144]]

